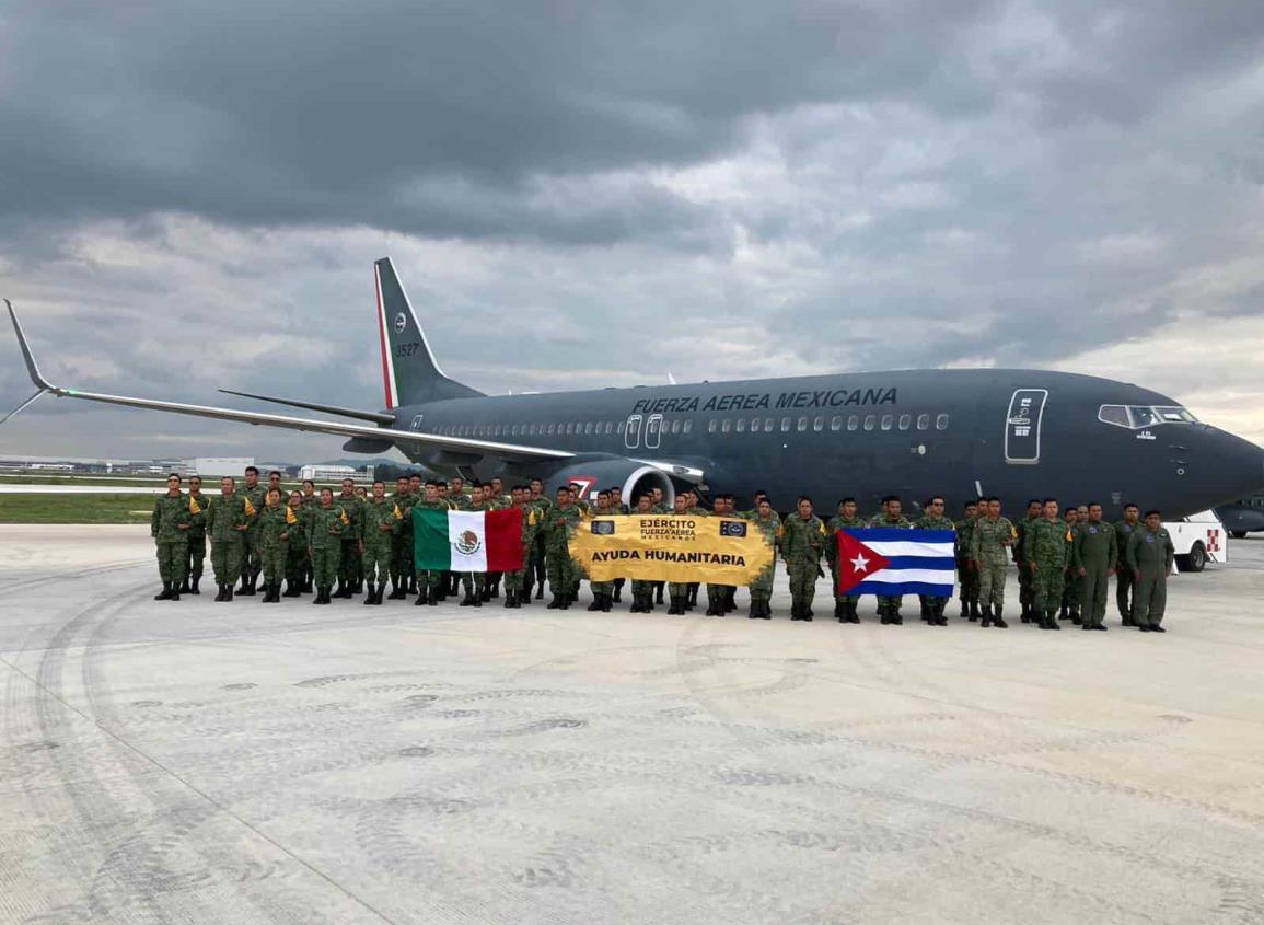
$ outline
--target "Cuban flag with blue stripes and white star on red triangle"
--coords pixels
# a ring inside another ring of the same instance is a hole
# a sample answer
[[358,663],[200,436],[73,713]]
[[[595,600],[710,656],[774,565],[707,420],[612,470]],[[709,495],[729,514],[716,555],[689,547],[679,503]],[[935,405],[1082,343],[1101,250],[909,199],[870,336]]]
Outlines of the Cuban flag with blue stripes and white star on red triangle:
[[841,529],[838,593],[951,598],[956,542],[951,529]]

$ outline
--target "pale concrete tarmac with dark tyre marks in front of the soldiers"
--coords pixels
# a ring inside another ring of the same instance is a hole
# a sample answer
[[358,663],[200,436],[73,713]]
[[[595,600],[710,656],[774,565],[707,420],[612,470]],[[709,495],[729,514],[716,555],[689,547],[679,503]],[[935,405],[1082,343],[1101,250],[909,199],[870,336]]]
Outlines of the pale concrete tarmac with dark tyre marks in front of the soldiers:
[[158,603],[145,528],[4,526],[0,921],[1258,922],[1232,557],[1049,633]]

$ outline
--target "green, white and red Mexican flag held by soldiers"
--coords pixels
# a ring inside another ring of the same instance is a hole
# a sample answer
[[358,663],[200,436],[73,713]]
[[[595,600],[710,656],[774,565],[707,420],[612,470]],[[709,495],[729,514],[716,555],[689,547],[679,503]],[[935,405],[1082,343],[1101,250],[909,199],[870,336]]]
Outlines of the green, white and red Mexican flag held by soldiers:
[[518,571],[522,511],[413,508],[412,557],[420,571]]

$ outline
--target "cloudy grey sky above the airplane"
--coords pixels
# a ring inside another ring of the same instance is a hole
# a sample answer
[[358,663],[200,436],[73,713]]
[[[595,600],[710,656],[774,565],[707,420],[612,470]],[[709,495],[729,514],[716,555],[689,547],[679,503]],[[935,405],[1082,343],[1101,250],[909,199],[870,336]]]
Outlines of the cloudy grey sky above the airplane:
[[[1053,366],[1264,442],[1258,3],[10,0],[0,126],[0,294],[54,382],[378,408],[389,254],[485,392]],[[0,428],[340,442],[51,398]]]

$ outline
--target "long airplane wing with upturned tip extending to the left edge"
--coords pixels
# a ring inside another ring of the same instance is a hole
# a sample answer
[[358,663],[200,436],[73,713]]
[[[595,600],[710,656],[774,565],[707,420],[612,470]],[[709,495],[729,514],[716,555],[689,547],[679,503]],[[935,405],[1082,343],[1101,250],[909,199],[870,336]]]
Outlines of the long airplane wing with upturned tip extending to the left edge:
[[[131,408],[148,408],[150,411],[169,411],[174,414],[191,414],[193,417],[210,417],[220,421],[236,421],[262,427],[281,427],[292,431],[307,431],[311,433],[334,433],[345,437],[365,437],[369,440],[389,440],[394,444],[413,447],[430,447],[435,450],[449,450],[451,452],[466,452],[483,456],[495,456],[504,460],[564,460],[571,459],[575,454],[566,450],[550,450],[538,446],[521,446],[518,444],[502,444],[490,440],[469,440],[465,437],[446,437],[436,433],[413,433],[393,427],[372,427],[368,425],[343,423],[341,421],[320,421],[316,418],[291,417],[288,414],[267,414],[253,411],[238,411],[236,408],[215,408],[205,404],[186,404],[183,402],[163,402],[153,398],[131,398],[128,396],[107,396],[99,392],[82,392],[73,388],[53,385],[39,372],[30,345],[23,334],[18,315],[13,310],[9,299],[5,299],[9,308],[9,317],[13,321],[14,331],[18,334],[18,344],[21,348],[23,359],[27,361],[27,372],[35,383],[39,392],[28,399],[25,404],[35,397],[49,393],[61,398],[82,398],[88,402],[104,402],[106,404],[123,404]],[[20,411],[20,408],[19,408]]]

